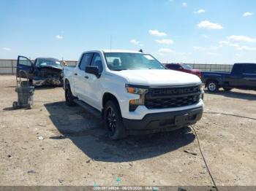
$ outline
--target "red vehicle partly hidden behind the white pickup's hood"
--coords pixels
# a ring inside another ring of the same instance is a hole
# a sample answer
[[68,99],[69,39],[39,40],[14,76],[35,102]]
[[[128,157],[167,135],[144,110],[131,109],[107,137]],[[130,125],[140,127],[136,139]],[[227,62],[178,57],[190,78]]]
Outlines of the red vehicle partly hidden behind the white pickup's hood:
[[195,74],[197,75],[197,77],[202,77],[201,71],[198,69],[193,69],[191,66],[189,66],[189,64],[185,64],[185,63],[167,63],[165,64],[165,67],[167,69],[171,69],[171,70],[177,70],[177,71],[183,71],[183,72],[187,72],[189,74]]

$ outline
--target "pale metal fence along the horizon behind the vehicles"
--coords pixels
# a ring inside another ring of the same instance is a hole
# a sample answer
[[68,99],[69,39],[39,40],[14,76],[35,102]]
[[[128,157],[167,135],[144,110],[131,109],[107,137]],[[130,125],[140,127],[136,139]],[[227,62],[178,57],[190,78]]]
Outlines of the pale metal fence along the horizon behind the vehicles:
[[[68,66],[75,66],[77,61],[66,61]],[[233,65],[189,63],[193,69],[201,71],[231,71]],[[17,60],[0,59],[0,74],[16,74]]]

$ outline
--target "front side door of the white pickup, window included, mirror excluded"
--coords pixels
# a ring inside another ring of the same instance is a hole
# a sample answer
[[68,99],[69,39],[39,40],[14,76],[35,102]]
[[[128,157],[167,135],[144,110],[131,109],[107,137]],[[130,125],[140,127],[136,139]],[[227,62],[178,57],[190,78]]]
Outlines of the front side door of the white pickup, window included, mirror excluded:
[[[102,57],[99,53],[95,52],[93,58],[91,59],[91,66],[97,66],[99,73],[103,71]],[[88,100],[91,106],[94,106],[97,109],[101,109],[101,99],[102,99],[102,77],[97,77],[94,74],[86,73],[88,85]]]

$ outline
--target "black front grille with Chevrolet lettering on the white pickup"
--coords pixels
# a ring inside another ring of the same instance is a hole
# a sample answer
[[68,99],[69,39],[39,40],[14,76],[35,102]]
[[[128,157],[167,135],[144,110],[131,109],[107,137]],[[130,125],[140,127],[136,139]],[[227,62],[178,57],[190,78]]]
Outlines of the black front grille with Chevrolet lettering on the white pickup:
[[197,104],[200,100],[200,87],[152,87],[145,95],[148,109],[166,109]]

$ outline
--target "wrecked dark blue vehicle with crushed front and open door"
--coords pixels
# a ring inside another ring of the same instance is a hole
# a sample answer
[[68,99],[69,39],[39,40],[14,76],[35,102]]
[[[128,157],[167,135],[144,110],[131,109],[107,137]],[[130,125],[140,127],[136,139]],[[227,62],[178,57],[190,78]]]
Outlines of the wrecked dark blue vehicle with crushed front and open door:
[[16,75],[28,78],[34,86],[63,85],[63,66],[56,58],[37,58],[32,62],[19,55]]

